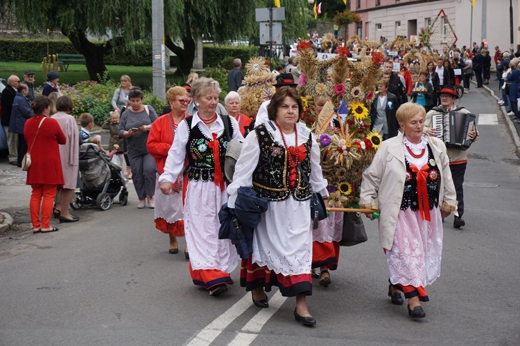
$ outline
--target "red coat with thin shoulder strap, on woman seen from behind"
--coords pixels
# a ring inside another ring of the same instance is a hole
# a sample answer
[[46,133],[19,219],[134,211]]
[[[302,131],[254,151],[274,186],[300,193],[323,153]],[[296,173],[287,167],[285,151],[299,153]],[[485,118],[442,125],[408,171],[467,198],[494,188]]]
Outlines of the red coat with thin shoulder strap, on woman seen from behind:
[[[24,135],[28,149],[31,149],[38,125],[44,116],[33,116],[24,126]],[[60,124],[53,118],[42,122],[31,149],[31,167],[27,171],[27,185],[49,184],[63,185],[60,144],[67,143]]]

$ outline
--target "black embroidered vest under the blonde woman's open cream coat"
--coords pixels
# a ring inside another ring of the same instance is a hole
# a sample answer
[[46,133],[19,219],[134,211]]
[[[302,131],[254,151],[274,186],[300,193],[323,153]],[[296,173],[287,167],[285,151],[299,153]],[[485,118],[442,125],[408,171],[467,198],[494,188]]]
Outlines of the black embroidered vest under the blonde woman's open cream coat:
[[[428,188],[428,205],[430,210],[439,206],[439,190],[440,190],[440,170],[439,166],[433,158],[430,145],[428,147],[428,177],[426,177],[426,187]],[[404,193],[401,200],[401,210],[411,208],[414,211],[419,210],[419,201],[417,200],[417,173],[410,169],[410,163],[406,161],[406,179],[404,181]],[[419,167],[420,168],[420,167]]]

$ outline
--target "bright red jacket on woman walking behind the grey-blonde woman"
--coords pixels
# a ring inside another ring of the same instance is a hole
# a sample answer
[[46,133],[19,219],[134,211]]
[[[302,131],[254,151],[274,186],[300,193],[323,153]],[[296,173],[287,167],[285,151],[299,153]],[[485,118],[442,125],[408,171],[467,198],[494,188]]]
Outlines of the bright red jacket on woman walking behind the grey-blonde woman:
[[150,129],[148,141],[146,142],[148,154],[155,158],[159,174],[164,172],[168,150],[170,150],[173,144],[173,131],[168,121],[168,116],[170,116],[170,113],[163,114],[152,123],[152,129]]

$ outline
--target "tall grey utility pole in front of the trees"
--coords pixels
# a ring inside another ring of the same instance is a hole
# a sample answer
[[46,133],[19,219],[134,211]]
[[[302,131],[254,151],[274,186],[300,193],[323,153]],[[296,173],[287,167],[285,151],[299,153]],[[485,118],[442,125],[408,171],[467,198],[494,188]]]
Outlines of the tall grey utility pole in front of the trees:
[[166,69],[164,53],[164,0],[152,0],[152,78],[153,94],[166,99]]

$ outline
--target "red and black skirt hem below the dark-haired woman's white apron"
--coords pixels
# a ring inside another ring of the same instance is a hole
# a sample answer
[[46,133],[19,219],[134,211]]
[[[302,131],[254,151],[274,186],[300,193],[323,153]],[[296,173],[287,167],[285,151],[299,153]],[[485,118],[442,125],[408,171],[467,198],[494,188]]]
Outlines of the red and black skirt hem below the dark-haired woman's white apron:
[[270,271],[267,266],[252,263],[251,258],[250,254],[248,260],[242,260],[240,267],[240,286],[245,287],[245,291],[263,287],[270,292],[272,286],[277,286],[284,297],[312,295],[311,273],[284,276]]

